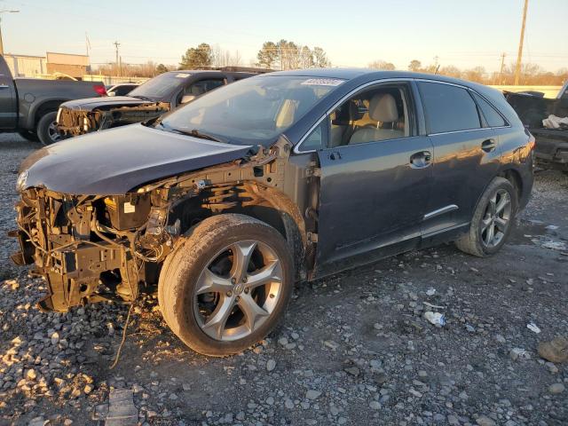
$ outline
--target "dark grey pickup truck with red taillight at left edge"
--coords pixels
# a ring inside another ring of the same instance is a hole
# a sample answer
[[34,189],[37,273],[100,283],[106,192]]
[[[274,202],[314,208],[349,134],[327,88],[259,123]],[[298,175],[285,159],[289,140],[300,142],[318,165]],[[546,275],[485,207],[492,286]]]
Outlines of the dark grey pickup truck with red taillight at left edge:
[[17,131],[43,145],[59,139],[55,119],[59,104],[70,99],[106,95],[99,82],[12,78],[0,55],[0,131]]

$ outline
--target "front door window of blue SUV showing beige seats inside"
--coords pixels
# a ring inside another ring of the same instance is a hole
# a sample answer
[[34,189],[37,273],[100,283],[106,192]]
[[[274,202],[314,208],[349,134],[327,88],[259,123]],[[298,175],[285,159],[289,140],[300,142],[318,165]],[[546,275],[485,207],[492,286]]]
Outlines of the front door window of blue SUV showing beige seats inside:
[[361,91],[329,115],[328,147],[413,136],[406,84]]

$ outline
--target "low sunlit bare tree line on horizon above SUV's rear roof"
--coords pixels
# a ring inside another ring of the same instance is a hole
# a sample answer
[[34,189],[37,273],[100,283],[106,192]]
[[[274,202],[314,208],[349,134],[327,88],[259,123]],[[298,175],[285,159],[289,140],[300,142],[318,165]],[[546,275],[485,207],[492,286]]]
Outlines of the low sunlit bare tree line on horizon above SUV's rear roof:
[[[397,67],[386,60],[375,60],[368,64],[369,68],[381,70],[394,70]],[[461,78],[470,82],[495,85],[515,84],[515,64],[505,65],[502,71],[487,72],[485,67],[471,67],[460,69],[453,65],[441,66],[438,63],[422,66],[417,59],[410,61],[408,71],[416,73],[439,74],[449,77]],[[521,65],[520,85],[527,86],[559,86],[568,80],[568,67],[560,68],[556,73],[545,70],[537,64],[526,63]]]

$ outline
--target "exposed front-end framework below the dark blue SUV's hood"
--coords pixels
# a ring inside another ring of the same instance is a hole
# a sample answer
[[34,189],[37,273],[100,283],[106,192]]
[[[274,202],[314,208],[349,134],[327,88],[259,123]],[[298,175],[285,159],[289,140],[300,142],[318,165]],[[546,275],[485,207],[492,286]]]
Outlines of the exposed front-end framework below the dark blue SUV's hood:
[[21,251],[12,260],[35,263],[34,273],[47,281],[51,294],[39,303],[43,311],[67,312],[79,304],[135,300],[140,288],[157,283],[179,236],[220,212],[262,206],[280,211],[283,232],[304,258],[304,219],[275,189],[284,186],[289,150],[282,140],[248,160],[170,177],[122,195],[30,187],[21,191],[16,205],[20,229],[12,236],[19,239]]

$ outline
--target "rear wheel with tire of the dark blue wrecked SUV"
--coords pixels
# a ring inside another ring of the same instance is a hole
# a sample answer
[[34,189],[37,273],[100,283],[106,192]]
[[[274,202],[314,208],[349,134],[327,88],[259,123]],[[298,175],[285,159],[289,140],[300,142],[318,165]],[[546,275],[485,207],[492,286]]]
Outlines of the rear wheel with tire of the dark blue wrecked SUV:
[[469,232],[455,241],[455,245],[469,255],[494,255],[509,238],[517,209],[515,187],[504,177],[495,177],[477,202]]

